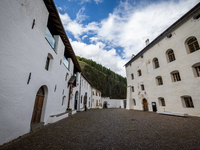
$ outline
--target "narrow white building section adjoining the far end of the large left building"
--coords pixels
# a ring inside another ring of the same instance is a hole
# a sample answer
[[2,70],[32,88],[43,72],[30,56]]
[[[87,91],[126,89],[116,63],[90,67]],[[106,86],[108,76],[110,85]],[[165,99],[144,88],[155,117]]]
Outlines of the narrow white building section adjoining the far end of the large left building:
[[84,111],[85,107],[90,109],[91,107],[91,83],[90,81],[81,74],[80,79],[80,102],[79,102],[79,111]]

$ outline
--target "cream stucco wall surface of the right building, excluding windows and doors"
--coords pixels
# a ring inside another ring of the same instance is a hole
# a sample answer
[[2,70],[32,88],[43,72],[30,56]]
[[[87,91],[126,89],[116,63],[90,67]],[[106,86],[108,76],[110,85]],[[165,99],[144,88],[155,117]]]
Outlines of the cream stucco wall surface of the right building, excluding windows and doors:
[[[188,113],[189,115],[200,116],[200,77],[195,77],[192,66],[200,62],[200,50],[188,53],[186,40],[189,37],[196,37],[200,42],[200,19],[190,18],[179,28],[172,32],[172,37],[165,37],[150,50],[143,54],[143,58],[137,58],[131,65],[126,67],[127,83],[134,86],[134,92],[127,88],[127,109],[143,110],[142,100],[148,101],[149,111],[152,111],[152,102],[156,102],[158,111]],[[173,49],[175,61],[168,62],[166,51]],[[157,57],[160,67],[154,69],[153,59]],[[141,69],[142,76],[137,71]],[[171,72],[178,70],[181,81],[172,82]],[[134,79],[131,79],[131,74]],[[161,76],[163,85],[156,84],[156,77]],[[141,90],[144,84],[145,90]],[[181,96],[191,96],[194,108],[185,108]],[[161,106],[159,97],[165,99],[166,106]],[[136,101],[136,106],[133,104]]]

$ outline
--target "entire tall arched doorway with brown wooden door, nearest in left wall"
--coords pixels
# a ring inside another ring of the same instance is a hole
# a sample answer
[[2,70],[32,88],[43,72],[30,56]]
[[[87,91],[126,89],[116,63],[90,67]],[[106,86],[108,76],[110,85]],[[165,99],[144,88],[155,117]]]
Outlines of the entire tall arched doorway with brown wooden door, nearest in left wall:
[[41,86],[36,94],[31,124],[40,122],[41,115],[42,115],[42,107],[44,103],[44,97],[45,97],[44,87]]

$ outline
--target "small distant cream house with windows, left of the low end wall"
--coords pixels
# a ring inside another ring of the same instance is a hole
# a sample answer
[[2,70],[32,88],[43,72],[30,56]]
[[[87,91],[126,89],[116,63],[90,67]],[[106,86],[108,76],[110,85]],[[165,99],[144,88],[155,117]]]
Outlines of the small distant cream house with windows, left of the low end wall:
[[101,91],[92,87],[92,105],[91,108],[99,108],[102,107],[101,103]]

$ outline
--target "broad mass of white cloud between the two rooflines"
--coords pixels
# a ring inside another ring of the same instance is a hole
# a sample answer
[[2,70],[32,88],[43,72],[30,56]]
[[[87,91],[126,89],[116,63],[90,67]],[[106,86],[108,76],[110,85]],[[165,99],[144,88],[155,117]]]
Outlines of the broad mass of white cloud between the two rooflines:
[[[71,20],[67,14],[61,14],[61,19],[65,29],[78,40],[71,41],[77,55],[93,59],[125,76],[124,64],[132,54],[136,55],[145,47],[145,40],[149,38],[151,42],[198,2],[171,0],[135,7],[125,1],[120,2],[108,18],[101,22],[81,24],[79,16],[87,19],[84,8],[79,10],[75,20]],[[83,43],[81,38],[88,38],[91,43]],[[122,50],[116,47],[122,47]],[[117,54],[119,51],[123,56]]]

